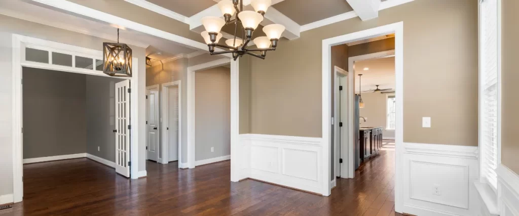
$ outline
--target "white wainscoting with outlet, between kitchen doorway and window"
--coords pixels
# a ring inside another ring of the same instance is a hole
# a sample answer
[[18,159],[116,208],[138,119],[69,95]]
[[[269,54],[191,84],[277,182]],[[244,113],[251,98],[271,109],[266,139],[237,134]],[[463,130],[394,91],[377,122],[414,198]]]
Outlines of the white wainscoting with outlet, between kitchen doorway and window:
[[[477,215],[480,199],[477,147],[403,143],[403,212],[428,215]],[[435,188],[439,189],[436,193]]]

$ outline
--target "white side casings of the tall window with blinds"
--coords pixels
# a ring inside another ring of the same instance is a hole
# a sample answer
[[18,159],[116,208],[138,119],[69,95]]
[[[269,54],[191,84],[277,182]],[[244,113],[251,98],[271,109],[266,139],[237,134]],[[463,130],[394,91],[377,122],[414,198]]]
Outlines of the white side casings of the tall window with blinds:
[[483,92],[484,88],[482,88],[482,80],[483,78],[483,68],[484,68],[484,60],[483,60],[483,21],[482,21],[482,8],[481,4],[484,1],[497,1],[497,166],[501,164],[501,0],[480,0],[478,3],[478,60],[479,60],[479,72],[478,72],[478,146],[480,153],[480,182],[488,185],[490,189],[492,189],[497,194],[497,185],[494,186],[491,184],[486,176],[484,175],[483,169],[486,166],[485,160],[485,146],[482,143],[483,133],[482,127],[484,121],[482,121],[484,113],[483,111]]

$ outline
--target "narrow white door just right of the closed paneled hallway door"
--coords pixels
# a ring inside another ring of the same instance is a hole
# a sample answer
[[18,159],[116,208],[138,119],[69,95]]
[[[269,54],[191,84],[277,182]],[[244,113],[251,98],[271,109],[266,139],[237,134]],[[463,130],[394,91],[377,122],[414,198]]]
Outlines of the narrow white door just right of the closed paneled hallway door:
[[168,88],[168,133],[169,162],[179,160],[179,87]]

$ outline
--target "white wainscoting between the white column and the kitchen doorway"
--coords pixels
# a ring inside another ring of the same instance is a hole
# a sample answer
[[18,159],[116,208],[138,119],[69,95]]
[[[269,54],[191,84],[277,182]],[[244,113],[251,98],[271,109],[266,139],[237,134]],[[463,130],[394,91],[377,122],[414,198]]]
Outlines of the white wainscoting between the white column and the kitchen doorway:
[[321,139],[241,134],[241,178],[322,193]]

